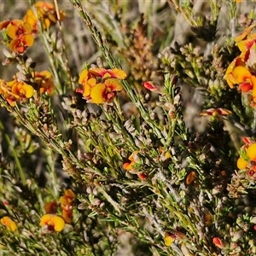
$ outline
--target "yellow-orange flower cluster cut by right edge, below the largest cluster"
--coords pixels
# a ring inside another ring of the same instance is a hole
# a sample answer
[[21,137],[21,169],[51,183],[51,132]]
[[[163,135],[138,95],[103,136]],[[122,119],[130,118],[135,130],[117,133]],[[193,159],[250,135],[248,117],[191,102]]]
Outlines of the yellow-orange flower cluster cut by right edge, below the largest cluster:
[[237,167],[246,170],[248,177],[256,178],[256,142],[248,137],[243,138],[245,145],[241,147],[241,155],[237,160]]

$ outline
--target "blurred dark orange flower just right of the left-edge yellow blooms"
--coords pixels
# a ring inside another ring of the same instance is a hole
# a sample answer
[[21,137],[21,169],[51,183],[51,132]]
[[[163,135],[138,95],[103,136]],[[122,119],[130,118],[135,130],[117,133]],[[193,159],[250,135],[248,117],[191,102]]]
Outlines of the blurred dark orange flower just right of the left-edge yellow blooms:
[[55,89],[54,80],[52,74],[47,71],[35,72],[34,79],[38,84],[38,90],[40,94],[48,93],[51,95]]

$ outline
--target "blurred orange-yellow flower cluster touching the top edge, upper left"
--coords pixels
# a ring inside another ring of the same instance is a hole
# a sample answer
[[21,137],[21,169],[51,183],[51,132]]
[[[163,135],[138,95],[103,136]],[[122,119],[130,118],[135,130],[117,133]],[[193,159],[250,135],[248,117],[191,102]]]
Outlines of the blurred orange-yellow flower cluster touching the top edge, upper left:
[[[47,29],[49,26],[55,25],[57,22],[57,13],[55,6],[52,3],[45,3],[38,1],[34,5],[37,14],[32,9],[28,9],[24,20],[31,24],[33,32],[38,32],[38,19],[41,21],[43,29]],[[66,14],[60,11],[60,20],[64,20]]]

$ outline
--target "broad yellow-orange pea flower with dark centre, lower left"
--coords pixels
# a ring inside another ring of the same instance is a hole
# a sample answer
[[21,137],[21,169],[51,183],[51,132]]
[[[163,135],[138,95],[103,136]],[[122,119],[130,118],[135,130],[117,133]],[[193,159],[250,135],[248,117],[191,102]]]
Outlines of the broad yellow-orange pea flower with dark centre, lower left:
[[60,232],[64,229],[65,221],[58,215],[47,213],[41,218],[40,226],[46,227],[49,231]]

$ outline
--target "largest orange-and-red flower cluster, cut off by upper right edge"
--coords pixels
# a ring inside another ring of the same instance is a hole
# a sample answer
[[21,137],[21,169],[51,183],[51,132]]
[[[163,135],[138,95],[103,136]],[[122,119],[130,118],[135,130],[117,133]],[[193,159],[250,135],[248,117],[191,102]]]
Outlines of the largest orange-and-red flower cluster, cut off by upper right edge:
[[235,38],[241,54],[230,63],[225,73],[225,79],[234,88],[238,84],[238,89],[242,93],[251,96],[251,105],[256,103],[256,33],[252,33],[255,25],[247,27],[240,36]]

